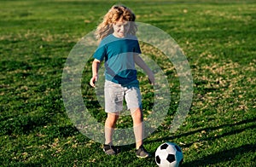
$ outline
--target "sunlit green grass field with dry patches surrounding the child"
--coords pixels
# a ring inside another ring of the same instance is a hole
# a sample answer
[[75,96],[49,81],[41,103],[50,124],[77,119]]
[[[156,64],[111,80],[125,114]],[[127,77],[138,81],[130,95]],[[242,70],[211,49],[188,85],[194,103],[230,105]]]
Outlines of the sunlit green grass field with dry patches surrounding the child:
[[[62,101],[61,75],[69,52],[116,2],[0,1],[0,165],[156,166],[154,158],[136,158],[133,144],[106,156],[101,143],[79,133]],[[179,101],[177,73],[151,53],[166,72],[172,102],[165,122],[145,140],[148,151],[154,154],[161,143],[172,141],[183,149],[183,166],[255,166],[255,1],[121,3],[137,14],[137,21],[170,34],[193,75],[189,115],[170,133]],[[91,102],[96,96],[88,85],[90,67],[83,76],[84,104],[103,123],[106,114]],[[154,94],[145,85],[147,112]],[[130,126],[131,118],[120,122]]]

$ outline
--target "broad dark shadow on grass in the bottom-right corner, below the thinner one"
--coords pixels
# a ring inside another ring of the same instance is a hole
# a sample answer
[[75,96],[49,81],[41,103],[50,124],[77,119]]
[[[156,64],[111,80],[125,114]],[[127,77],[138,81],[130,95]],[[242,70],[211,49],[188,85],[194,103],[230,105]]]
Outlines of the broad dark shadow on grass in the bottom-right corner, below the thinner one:
[[[189,162],[189,163],[183,163],[182,166],[206,166],[211,164],[218,164],[225,161],[230,161],[233,158],[236,158],[234,154],[241,155],[248,152],[255,152],[256,145],[255,144],[247,144],[243,145],[241,147],[232,148],[230,150],[224,150],[218,153],[213,153],[211,155],[208,155],[206,157],[200,158],[198,160]],[[253,163],[253,162],[252,162]]]

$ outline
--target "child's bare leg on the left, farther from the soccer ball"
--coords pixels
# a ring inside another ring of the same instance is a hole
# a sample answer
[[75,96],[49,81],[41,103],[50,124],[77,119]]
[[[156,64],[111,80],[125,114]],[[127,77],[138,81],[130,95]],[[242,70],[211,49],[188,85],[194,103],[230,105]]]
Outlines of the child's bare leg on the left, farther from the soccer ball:
[[105,144],[112,145],[113,130],[119,118],[119,112],[108,113],[105,121]]

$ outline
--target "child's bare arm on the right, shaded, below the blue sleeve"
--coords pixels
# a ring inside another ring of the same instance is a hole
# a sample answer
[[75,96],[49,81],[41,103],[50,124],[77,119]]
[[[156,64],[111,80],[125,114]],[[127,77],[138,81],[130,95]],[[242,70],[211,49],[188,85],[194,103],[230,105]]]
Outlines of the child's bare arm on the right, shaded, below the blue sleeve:
[[137,66],[143,68],[144,72],[147,73],[149,83],[154,85],[154,72],[152,72],[152,70],[147,66],[147,64],[144,62],[144,60],[138,54],[134,54],[133,57],[134,57],[134,61],[137,64]]

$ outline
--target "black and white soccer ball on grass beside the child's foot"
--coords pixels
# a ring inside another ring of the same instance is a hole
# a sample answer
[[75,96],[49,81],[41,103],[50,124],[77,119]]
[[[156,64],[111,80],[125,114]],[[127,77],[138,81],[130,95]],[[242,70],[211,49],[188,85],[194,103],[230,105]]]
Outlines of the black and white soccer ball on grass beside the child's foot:
[[183,153],[177,144],[165,142],[155,151],[155,162],[162,167],[177,167],[183,162]]

